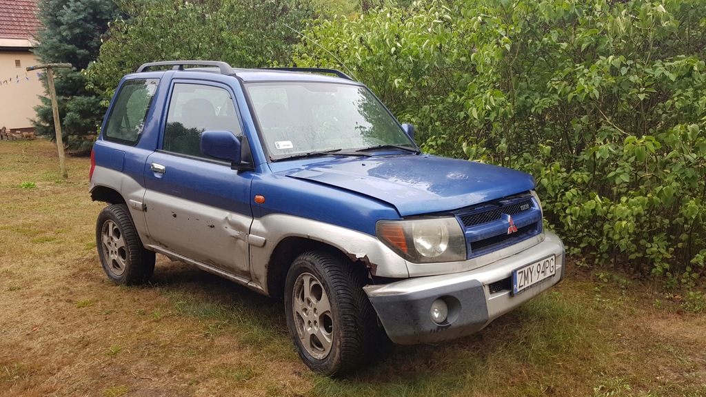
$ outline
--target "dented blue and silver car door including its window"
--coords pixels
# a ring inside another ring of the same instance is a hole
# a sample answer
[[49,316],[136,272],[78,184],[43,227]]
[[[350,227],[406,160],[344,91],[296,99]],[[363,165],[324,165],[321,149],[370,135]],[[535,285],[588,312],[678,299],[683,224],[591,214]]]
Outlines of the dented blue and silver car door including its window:
[[145,169],[145,218],[163,249],[249,279],[252,173],[231,170],[200,146],[206,130],[242,135],[233,97],[227,86],[173,83],[162,149]]

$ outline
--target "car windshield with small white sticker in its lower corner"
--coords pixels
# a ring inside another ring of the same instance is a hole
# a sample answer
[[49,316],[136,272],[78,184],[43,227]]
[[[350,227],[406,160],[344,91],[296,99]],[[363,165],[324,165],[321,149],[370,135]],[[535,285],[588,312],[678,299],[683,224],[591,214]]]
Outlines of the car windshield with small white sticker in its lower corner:
[[249,83],[246,90],[270,160],[378,146],[417,150],[375,95],[359,85]]

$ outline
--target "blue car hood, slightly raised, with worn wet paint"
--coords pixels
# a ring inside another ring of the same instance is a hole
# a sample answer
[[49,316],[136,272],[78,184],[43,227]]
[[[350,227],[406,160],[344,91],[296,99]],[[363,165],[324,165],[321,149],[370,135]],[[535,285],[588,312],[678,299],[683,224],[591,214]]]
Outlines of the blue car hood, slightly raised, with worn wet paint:
[[432,155],[327,158],[284,171],[385,201],[402,216],[452,211],[534,189],[524,172]]

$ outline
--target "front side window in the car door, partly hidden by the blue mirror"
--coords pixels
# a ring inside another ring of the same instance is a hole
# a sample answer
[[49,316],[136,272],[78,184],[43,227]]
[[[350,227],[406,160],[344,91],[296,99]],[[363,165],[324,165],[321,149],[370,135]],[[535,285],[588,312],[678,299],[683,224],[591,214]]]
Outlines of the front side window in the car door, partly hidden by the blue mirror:
[[205,158],[201,153],[201,134],[206,130],[243,135],[230,93],[212,85],[175,84],[162,149]]

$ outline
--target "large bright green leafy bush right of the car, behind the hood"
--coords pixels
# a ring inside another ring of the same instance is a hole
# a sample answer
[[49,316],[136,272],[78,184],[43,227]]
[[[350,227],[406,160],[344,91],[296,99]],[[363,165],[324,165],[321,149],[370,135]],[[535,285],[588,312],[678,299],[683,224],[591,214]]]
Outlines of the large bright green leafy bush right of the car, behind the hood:
[[313,21],[294,62],[349,69],[428,152],[532,173],[581,263],[693,287],[704,20],[699,0],[419,1]]

